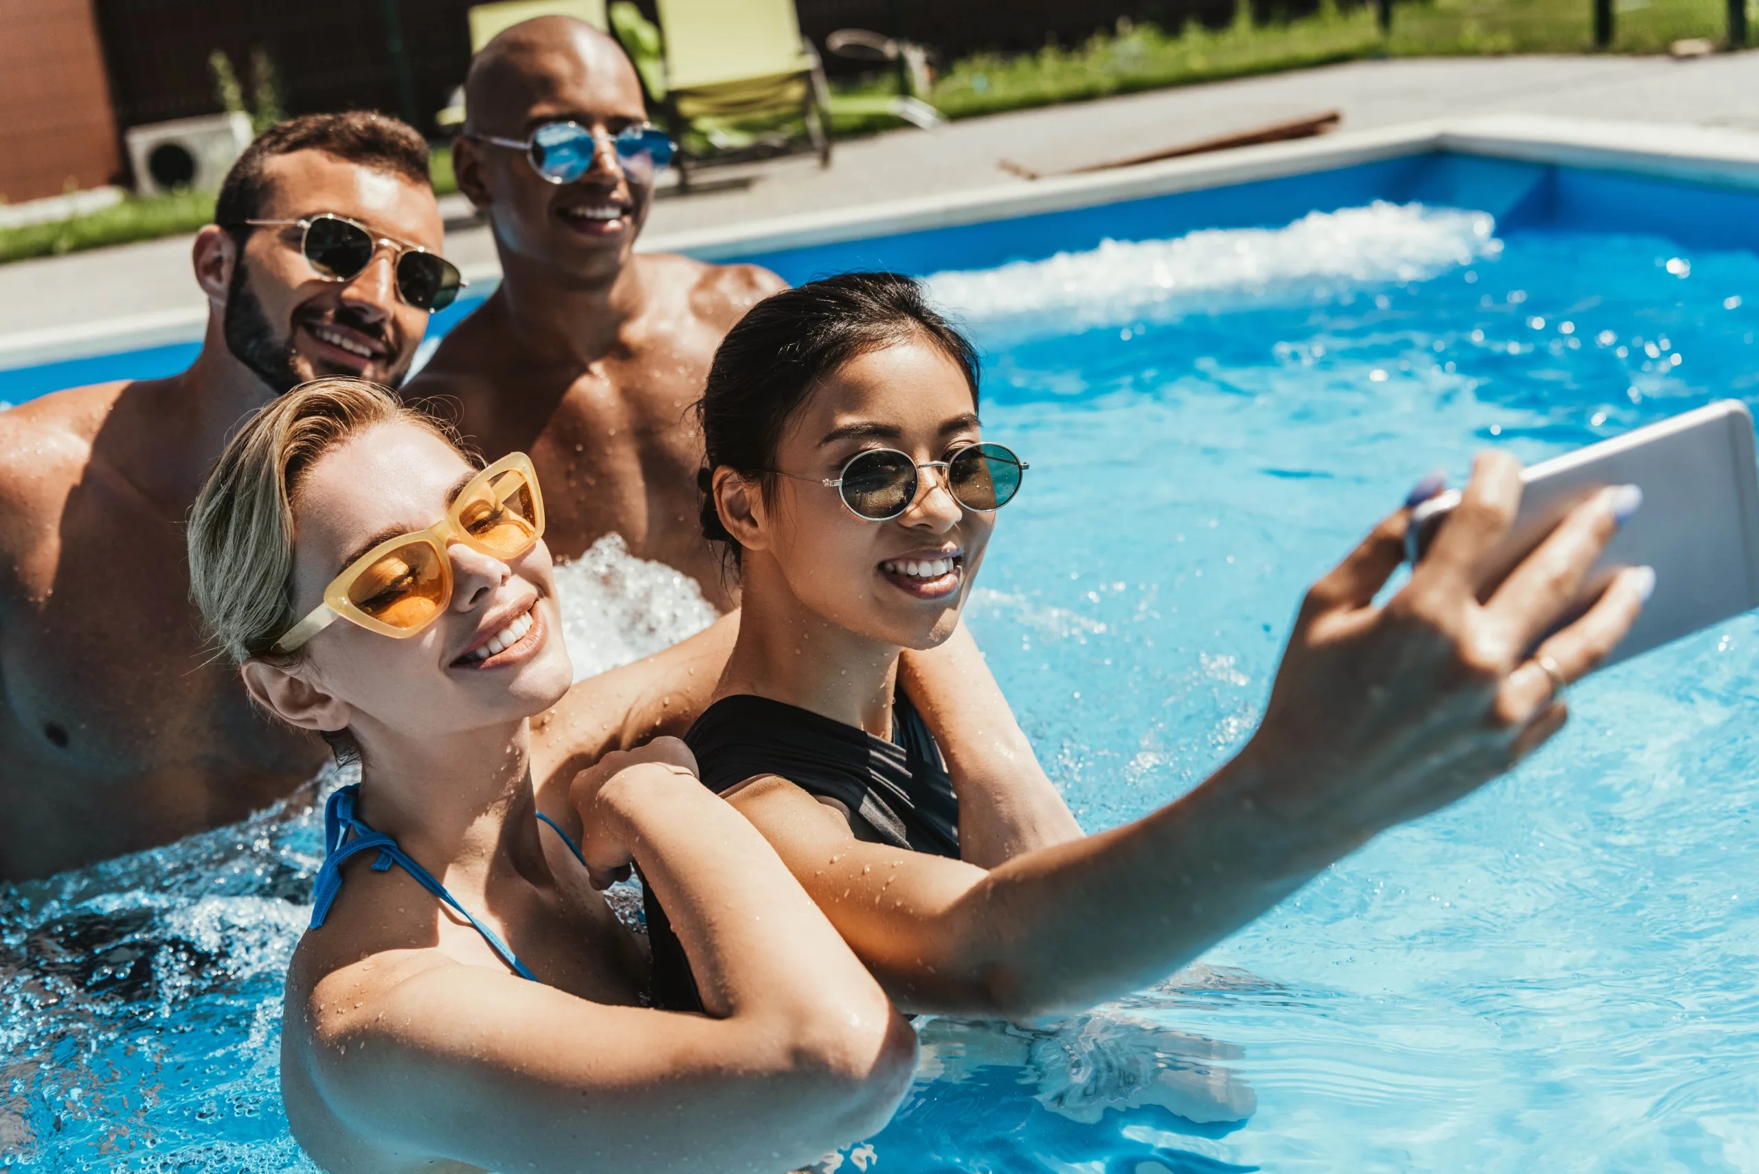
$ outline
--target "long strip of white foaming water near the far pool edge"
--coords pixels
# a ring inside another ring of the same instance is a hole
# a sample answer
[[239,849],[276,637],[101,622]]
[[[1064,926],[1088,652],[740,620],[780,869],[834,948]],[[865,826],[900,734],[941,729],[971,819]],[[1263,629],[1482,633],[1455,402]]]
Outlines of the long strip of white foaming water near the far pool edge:
[[1495,257],[1488,213],[1421,204],[1310,213],[1284,228],[1205,228],[1171,241],[1103,241],[982,271],[927,278],[936,302],[971,323],[1050,329],[1120,325],[1242,299],[1288,299],[1337,285],[1421,281]]

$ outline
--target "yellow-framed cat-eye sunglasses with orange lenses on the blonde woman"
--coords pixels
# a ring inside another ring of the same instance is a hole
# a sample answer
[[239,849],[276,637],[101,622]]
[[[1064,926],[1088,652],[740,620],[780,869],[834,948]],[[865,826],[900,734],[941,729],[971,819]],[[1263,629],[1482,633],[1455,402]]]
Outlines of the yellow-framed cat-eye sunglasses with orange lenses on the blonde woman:
[[544,536],[544,496],[531,457],[508,453],[457,490],[447,515],[424,531],[387,538],[329,582],[324,603],[269,649],[288,654],[336,620],[405,640],[433,624],[452,601],[452,557],[459,541],[491,559],[512,559]]

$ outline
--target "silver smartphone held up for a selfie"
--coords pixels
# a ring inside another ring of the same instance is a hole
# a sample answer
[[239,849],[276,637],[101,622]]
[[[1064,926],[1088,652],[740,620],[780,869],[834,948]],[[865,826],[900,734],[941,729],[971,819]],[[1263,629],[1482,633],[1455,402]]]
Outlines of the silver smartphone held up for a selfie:
[[[1724,399],[1522,473],[1520,517],[1492,561],[1488,592],[1602,485],[1638,485],[1643,508],[1625,522],[1583,583],[1587,608],[1613,571],[1653,566],[1655,594],[1608,664],[1759,606],[1759,473],[1747,406]],[[1420,504],[1405,533],[1414,564],[1448,513],[1449,490]]]

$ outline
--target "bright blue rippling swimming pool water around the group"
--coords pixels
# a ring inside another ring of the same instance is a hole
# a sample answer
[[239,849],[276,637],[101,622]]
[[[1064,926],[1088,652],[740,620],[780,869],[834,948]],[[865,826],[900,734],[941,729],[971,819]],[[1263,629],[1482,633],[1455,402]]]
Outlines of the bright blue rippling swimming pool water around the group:
[[[765,260],[936,274],[974,325],[985,429],[1033,471],[973,626],[1092,830],[1240,743],[1300,591],[1425,471],[1754,401],[1754,211],[1427,158]],[[1163,988],[923,1023],[908,1104],[839,1162],[1754,1169],[1755,670],[1748,617],[1580,685],[1513,777]],[[276,1037],[318,852],[294,805],[0,895],[7,1167],[310,1169]]]

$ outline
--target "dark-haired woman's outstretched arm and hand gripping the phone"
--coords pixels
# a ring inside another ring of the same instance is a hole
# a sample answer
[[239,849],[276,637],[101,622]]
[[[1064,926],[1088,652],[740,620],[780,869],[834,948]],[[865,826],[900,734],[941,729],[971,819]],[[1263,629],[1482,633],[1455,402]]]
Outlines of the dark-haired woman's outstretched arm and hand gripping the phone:
[[[1564,724],[1527,649],[1567,612],[1617,529],[1580,506],[1488,598],[1485,568],[1520,504],[1520,469],[1479,460],[1432,554],[1386,606],[1409,510],[1323,578],[1296,619],[1265,721],[1205,784],[1101,835],[969,863],[862,844],[781,779],[732,794],[906,1011],[1033,1018],[1152,982],[1397,823],[1500,775]],[[1625,634],[1645,576],[1537,652],[1574,680]]]

